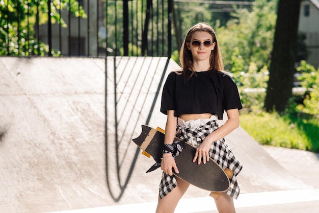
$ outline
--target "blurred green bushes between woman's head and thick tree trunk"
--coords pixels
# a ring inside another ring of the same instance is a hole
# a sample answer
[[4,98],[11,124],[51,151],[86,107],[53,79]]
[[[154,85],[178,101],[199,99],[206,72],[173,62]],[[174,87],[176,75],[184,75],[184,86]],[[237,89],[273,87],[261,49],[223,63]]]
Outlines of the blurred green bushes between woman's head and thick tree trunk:
[[216,22],[225,69],[233,74],[245,110],[262,110],[269,79],[277,0],[237,8],[226,26]]

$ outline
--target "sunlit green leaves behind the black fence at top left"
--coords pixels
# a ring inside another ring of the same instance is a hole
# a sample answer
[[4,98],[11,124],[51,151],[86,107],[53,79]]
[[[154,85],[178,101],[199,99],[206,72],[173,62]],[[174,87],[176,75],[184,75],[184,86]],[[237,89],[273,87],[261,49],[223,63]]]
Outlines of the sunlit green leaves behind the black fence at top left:
[[[68,4],[70,2],[70,5]],[[51,2],[51,22],[67,27],[59,10],[70,10],[75,16],[86,18],[85,11],[76,0],[54,0]],[[48,5],[37,0],[0,1],[0,55],[29,56],[40,55],[49,51],[48,46],[35,36],[36,15],[39,25],[48,21]],[[59,55],[59,51],[53,51]]]

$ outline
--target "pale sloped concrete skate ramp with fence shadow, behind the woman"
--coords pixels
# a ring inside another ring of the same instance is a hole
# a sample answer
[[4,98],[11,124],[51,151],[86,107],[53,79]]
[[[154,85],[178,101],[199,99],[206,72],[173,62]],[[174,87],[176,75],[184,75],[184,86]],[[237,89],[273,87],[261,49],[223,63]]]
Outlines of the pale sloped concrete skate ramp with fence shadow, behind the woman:
[[[1,57],[0,212],[156,201],[161,171],[145,174],[153,160],[131,139],[142,124],[165,127],[161,90],[176,68],[165,57]],[[311,188],[242,128],[226,140],[244,164],[242,193]]]

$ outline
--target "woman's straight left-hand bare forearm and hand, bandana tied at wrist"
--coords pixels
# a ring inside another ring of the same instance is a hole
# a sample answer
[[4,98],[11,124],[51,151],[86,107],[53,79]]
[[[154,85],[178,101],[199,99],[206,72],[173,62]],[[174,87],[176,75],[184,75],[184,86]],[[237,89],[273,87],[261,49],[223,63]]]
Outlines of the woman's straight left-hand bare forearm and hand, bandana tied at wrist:
[[[167,121],[165,126],[165,140],[164,144],[173,144],[173,140],[176,135],[176,127],[177,127],[177,117],[174,116],[174,110],[167,111]],[[176,163],[172,154],[167,153],[163,154],[163,159],[161,162],[161,169],[168,173],[169,175],[173,175],[172,168],[174,171],[178,173],[178,169],[176,167]]]

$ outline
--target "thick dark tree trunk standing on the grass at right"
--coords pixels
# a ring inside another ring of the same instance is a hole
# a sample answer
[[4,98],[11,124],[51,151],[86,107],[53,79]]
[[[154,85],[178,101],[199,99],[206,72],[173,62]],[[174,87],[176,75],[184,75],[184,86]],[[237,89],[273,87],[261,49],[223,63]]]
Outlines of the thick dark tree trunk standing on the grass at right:
[[301,0],[279,0],[264,107],[282,112],[292,97]]

